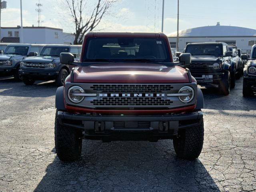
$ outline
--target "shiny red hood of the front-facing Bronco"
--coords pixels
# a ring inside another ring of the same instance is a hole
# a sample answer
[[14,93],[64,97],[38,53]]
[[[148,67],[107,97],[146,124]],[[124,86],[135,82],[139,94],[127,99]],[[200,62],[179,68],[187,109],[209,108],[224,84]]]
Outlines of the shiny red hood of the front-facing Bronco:
[[161,64],[108,63],[76,67],[74,82],[99,83],[184,83],[188,74],[179,66]]

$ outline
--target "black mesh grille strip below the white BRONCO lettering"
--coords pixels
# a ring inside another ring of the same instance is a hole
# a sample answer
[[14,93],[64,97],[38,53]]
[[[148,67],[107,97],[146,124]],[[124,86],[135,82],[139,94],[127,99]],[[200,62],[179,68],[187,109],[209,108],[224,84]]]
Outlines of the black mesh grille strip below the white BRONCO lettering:
[[93,105],[108,105],[108,106],[145,106],[145,105],[170,105],[172,101],[169,99],[162,99],[160,97],[103,97],[98,100],[91,101]]

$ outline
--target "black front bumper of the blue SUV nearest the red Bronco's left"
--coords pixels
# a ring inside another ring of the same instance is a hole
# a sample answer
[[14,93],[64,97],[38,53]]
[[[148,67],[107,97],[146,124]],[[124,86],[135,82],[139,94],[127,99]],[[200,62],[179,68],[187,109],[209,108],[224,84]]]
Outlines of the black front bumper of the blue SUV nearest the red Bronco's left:
[[54,79],[59,72],[54,70],[19,70],[20,76],[34,78],[36,80]]

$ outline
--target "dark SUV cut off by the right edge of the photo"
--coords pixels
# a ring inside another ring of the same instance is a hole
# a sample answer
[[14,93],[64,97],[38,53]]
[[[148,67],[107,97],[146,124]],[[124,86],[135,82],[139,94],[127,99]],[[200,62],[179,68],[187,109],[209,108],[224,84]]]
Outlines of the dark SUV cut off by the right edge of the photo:
[[245,54],[242,60],[248,60],[244,68],[243,96],[249,96],[256,92],[256,45],[252,46],[250,58]]

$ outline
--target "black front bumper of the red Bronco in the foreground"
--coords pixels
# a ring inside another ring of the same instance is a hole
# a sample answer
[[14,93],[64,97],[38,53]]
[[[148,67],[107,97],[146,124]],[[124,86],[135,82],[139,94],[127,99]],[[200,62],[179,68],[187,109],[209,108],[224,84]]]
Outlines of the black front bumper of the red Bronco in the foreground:
[[84,131],[84,138],[102,141],[175,138],[179,129],[198,126],[201,111],[170,115],[90,115],[58,111],[62,126]]

